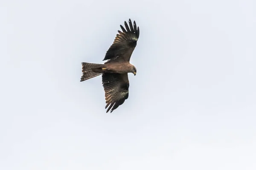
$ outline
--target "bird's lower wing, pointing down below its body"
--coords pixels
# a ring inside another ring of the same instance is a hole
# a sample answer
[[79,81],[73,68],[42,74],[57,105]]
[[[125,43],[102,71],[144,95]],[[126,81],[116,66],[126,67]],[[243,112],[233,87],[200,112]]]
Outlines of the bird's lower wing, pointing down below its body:
[[102,74],[102,85],[105,91],[106,108],[108,111],[115,110],[128,99],[129,79],[128,74],[104,73]]

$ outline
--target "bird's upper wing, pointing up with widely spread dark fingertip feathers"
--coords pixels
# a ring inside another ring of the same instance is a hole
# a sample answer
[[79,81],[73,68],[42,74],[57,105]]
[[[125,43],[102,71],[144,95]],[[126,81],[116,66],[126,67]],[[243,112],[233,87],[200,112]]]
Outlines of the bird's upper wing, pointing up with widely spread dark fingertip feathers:
[[126,29],[122,25],[120,25],[122,32],[118,30],[119,34],[116,34],[116,38],[113,44],[108,49],[103,61],[107,59],[110,59],[110,61],[117,59],[130,61],[131,54],[137,45],[137,40],[140,35],[140,29],[136,26],[135,21],[132,25],[131,19],[129,19],[129,26],[126,21]]

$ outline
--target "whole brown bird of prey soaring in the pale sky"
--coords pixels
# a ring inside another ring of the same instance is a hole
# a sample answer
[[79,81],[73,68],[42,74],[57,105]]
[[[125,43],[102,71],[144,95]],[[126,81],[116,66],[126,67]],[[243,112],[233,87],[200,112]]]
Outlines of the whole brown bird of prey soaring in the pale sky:
[[[129,24],[129,25],[128,25]],[[140,29],[136,23],[129,19],[125,22],[125,28],[120,25],[113,44],[105,54],[104,64],[82,62],[82,76],[80,82],[102,75],[102,85],[105,91],[106,108],[115,110],[128,99],[129,79],[128,73],[136,75],[136,68],[130,64],[131,54],[137,45]]]

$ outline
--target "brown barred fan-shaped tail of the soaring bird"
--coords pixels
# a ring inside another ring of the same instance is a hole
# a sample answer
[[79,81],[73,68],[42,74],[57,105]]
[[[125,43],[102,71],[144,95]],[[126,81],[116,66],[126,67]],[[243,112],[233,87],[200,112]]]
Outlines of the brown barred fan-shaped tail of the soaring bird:
[[81,77],[80,82],[101,75],[102,72],[100,72],[100,71],[102,70],[101,69],[102,66],[103,66],[103,64],[82,62],[83,75]]

